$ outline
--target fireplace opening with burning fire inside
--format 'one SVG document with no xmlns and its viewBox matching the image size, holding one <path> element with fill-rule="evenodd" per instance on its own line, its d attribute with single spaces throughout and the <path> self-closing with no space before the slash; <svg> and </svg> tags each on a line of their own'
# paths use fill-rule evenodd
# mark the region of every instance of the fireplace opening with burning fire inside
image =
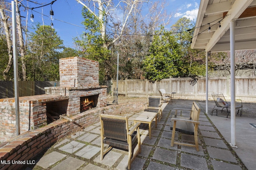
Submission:
<svg viewBox="0 0 256 170">
<path fill-rule="evenodd" d="M 80 113 L 97 106 L 99 95 L 80 97 Z"/>
</svg>

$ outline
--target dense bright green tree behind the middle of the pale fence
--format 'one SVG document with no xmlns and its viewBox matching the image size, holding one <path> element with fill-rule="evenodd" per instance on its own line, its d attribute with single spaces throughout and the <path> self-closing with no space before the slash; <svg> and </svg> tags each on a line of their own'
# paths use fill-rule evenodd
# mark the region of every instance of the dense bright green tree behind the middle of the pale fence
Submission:
<svg viewBox="0 0 256 170">
<path fill-rule="evenodd" d="M 155 82 L 178 75 L 181 47 L 177 38 L 164 30 L 164 27 L 156 31 L 149 53 L 144 60 L 145 78 Z"/>
</svg>

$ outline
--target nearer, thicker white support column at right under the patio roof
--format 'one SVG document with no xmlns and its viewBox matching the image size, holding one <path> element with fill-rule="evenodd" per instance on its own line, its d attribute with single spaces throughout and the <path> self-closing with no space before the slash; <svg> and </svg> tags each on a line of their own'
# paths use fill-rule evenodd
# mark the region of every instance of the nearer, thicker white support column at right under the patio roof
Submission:
<svg viewBox="0 0 256 170">
<path fill-rule="evenodd" d="M 230 21 L 231 147 L 236 147 L 235 21 Z M 237 147 L 236 147 L 237 148 Z"/>
</svg>

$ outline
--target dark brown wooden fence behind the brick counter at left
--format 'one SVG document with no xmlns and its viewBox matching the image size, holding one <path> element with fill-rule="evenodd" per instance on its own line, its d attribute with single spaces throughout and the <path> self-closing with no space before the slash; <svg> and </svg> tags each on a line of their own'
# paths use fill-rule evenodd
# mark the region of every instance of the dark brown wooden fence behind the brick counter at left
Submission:
<svg viewBox="0 0 256 170">
<path fill-rule="evenodd" d="M 19 96 L 45 94 L 45 87 L 60 86 L 60 82 L 19 81 Z M 0 81 L 0 98 L 14 97 L 14 82 Z"/>
</svg>

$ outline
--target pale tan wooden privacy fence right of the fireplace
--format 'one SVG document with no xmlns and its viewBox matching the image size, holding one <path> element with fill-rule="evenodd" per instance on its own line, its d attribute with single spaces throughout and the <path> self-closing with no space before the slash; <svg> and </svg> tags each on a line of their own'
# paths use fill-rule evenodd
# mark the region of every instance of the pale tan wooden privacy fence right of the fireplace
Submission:
<svg viewBox="0 0 256 170">
<path fill-rule="evenodd" d="M 146 97 L 147 95 L 160 95 L 158 90 L 163 88 L 166 92 L 176 92 L 174 98 L 206 99 L 206 78 L 200 78 L 192 86 L 191 78 L 169 78 L 159 82 L 148 80 L 118 80 L 118 94 L 128 97 Z M 116 80 L 112 80 L 112 92 L 116 89 Z M 256 76 L 236 77 L 236 99 L 256 102 Z M 211 94 L 222 92 L 230 100 L 230 77 L 208 78 L 208 97 Z"/>
</svg>

